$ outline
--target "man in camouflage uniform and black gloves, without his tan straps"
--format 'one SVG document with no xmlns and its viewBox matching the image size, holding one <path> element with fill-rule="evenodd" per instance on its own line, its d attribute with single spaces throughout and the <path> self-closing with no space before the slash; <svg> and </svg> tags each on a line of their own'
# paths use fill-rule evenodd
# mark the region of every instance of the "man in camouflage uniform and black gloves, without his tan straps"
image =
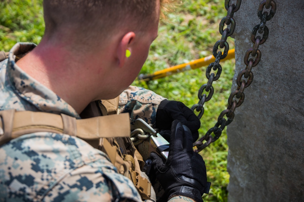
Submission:
<svg viewBox="0 0 304 202">
<path fill-rule="evenodd" d="M 154 181 L 159 181 L 165 193 L 157 201 L 202 201 L 206 167 L 192 150 L 198 118 L 180 102 L 130 86 L 157 37 L 165 3 L 44 0 L 46 28 L 40 44 L 17 43 L 0 63 L 0 110 L 46 112 L 71 120 L 128 113 L 131 128 L 142 118 L 170 141 L 167 160 L 150 156 L 151 182 L 156 186 Z M 118 96 L 117 106 L 105 107 Z M 4 133 L 7 118 L 1 117 Z M 109 141 L 116 144 L 116 137 Z M 0 146 L 0 200 L 149 200 L 100 146 L 100 141 L 95 147 L 68 132 L 39 131 L 12 138 Z M 130 161 L 138 164 L 132 142 L 129 147 L 127 153 L 122 146 L 117 153 L 128 157 L 133 151 Z"/>
</svg>

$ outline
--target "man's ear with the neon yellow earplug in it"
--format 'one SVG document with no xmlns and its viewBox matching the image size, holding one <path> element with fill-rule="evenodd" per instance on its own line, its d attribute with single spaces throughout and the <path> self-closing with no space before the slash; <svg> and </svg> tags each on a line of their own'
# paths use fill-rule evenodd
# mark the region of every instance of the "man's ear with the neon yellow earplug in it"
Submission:
<svg viewBox="0 0 304 202">
<path fill-rule="evenodd" d="M 126 51 L 129 50 L 131 52 L 132 57 L 132 43 L 135 38 L 134 32 L 126 33 L 121 39 L 118 47 L 117 47 L 117 57 L 119 61 L 119 67 L 123 67 L 128 58 L 126 57 Z"/>
</svg>

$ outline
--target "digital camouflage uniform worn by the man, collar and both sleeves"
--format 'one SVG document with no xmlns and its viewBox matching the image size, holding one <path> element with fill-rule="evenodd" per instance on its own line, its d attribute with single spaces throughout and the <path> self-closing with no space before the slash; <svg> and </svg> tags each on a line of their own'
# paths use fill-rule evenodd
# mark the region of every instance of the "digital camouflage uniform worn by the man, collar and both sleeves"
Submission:
<svg viewBox="0 0 304 202">
<path fill-rule="evenodd" d="M 15 56 L 35 47 L 19 43 L 0 63 L 0 110 L 79 114 L 58 95 L 15 64 Z M 163 97 L 144 88 L 122 93 L 119 107 L 131 122 L 155 125 Z M 0 201 L 141 201 L 131 180 L 117 173 L 109 158 L 85 141 L 66 134 L 26 134 L 0 147 Z"/>
</svg>

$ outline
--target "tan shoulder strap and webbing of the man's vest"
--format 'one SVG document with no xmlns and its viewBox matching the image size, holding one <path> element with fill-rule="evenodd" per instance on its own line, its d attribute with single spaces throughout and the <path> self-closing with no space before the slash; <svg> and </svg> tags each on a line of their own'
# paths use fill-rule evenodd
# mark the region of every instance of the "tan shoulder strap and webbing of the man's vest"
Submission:
<svg viewBox="0 0 304 202">
<path fill-rule="evenodd" d="M 34 132 L 63 133 L 79 137 L 85 141 L 99 140 L 97 142 L 102 145 L 101 150 L 108 154 L 113 164 L 117 166 L 119 160 L 121 160 L 119 165 L 126 166 L 126 169 L 123 170 L 126 176 L 133 181 L 141 197 L 150 199 L 153 191 L 151 191 L 148 178 L 140 175 L 139 162 L 142 161 L 143 163 L 140 154 L 136 150 L 134 157 L 123 155 L 124 158 L 121 158 L 119 157 L 118 147 L 106 139 L 114 141 L 117 137 L 130 137 L 130 117 L 128 113 L 76 120 L 76 118 L 65 114 L 15 110 L 0 111 L 0 146 L 16 137 Z M 130 166 L 124 163 L 129 161 Z M 119 170 L 121 166 L 117 167 Z"/>
</svg>

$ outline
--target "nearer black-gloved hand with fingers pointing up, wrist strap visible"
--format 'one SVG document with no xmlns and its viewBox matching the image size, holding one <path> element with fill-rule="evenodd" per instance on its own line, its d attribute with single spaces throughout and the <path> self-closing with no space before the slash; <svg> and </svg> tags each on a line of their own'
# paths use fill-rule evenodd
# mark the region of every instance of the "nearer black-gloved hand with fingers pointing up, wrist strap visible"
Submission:
<svg viewBox="0 0 304 202">
<path fill-rule="evenodd" d="M 167 199 L 179 195 L 202 201 L 207 185 L 206 166 L 202 156 L 193 151 L 192 142 L 189 128 L 175 120 L 167 161 L 163 162 L 156 153 L 150 154 L 152 168 Z"/>
</svg>

